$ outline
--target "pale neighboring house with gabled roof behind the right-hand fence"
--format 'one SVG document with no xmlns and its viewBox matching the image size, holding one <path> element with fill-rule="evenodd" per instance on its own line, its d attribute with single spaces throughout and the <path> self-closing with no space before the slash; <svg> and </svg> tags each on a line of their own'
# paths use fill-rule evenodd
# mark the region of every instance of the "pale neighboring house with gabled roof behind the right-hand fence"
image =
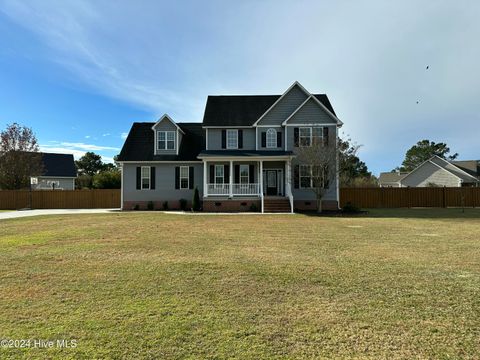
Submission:
<svg viewBox="0 0 480 360">
<path fill-rule="evenodd" d="M 382 173 L 379 183 L 382 187 L 480 186 L 480 162 L 433 156 L 408 174 Z"/>
</svg>

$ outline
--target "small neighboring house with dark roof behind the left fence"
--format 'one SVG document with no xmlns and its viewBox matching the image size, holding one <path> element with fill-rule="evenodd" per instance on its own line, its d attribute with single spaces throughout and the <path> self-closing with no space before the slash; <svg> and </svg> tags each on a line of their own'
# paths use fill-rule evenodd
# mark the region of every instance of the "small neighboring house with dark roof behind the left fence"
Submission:
<svg viewBox="0 0 480 360">
<path fill-rule="evenodd" d="M 75 190 L 77 169 L 71 154 L 40 153 L 43 174 L 37 176 L 33 190 Z"/>
</svg>

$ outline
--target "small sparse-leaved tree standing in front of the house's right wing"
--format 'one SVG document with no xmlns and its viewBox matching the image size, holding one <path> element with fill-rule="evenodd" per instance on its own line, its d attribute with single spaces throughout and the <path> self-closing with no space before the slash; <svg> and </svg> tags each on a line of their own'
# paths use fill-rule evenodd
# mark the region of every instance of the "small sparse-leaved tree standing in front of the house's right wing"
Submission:
<svg viewBox="0 0 480 360">
<path fill-rule="evenodd" d="M 300 188 L 310 189 L 315 194 L 317 212 L 322 212 L 322 200 L 330 185 L 337 180 L 337 149 L 337 142 L 329 141 L 328 135 L 323 137 L 322 134 L 300 137 L 298 147 L 295 148 L 298 162 L 295 181 L 298 181 Z"/>
</svg>

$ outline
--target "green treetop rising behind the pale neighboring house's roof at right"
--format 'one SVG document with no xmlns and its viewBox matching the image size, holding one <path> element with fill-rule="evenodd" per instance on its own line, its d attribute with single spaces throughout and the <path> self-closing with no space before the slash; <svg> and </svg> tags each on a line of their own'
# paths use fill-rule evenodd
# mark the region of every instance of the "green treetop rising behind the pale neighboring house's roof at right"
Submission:
<svg viewBox="0 0 480 360">
<path fill-rule="evenodd" d="M 445 160 L 455 160 L 458 154 L 448 155 L 450 148 L 445 143 L 435 143 L 430 140 L 421 140 L 408 149 L 402 166 L 397 170 L 410 172 L 420 164 L 436 155 Z"/>
</svg>

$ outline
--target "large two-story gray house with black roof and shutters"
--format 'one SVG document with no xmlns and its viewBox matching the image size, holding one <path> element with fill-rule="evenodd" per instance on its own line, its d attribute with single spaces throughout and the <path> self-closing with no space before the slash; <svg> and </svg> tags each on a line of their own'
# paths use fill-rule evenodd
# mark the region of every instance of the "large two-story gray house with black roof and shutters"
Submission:
<svg viewBox="0 0 480 360">
<path fill-rule="evenodd" d="M 122 208 L 190 206 L 198 187 L 206 211 L 315 209 L 295 149 L 315 136 L 336 146 L 341 125 L 327 96 L 298 82 L 283 95 L 209 96 L 202 123 L 134 123 L 118 157 Z M 338 209 L 338 179 L 322 205 Z"/>
</svg>

